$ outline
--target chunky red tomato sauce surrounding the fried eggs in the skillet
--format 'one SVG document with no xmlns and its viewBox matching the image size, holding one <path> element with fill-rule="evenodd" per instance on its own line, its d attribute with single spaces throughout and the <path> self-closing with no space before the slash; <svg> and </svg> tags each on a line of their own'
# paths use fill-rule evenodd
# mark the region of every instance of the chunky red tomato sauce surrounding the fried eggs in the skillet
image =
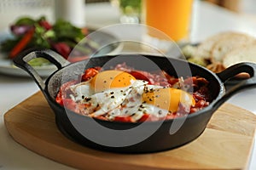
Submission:
<svg viewBox="0 0 256 170">
<path fill-rule="evenodd" d="M 150 85 L 161 86 L 165 88 L 186 88 L 190 94 L 192 94 L 193 98 L 195 99 L 195 105 L 189 108 L 183 107 L 182 104 L 179 105 L 178 111 L 173 112 L 172 114 L 167 114 L 164 117 L 166 119 L 174 119 L 179 116 L 184 116 L 185 114 L 192 114 L 196 111 L 200 111 L 204 107 L 207 107 L 211 102 L 210 93 L 208 89 L 209 82 L 204 77 L 173 77 L 168 75 L 166 71 L 158 71 L 158 72 L 148 72 L 148 71 L 139 71 L 135 70 L 125 63 L 115 65 L 113 70 L 117 71 L 125 71 L 135 77 L 137 80 L 144 80 L 147 81 Z M 67 107 L 67 109 L 74 111 L 79 114 L 79 105 L 73 99 L 70 98 L 70 94 L 72 91 L 70 87 L 79 83 L 79 82 L 86 82 L 90 80 L 92 77 L 95 77 L 102 71 L 102 67 L 94 67 L 89 68 L 84 71 L 84 73 L 80 76 L 79 80 L 73 80 L 70 82 L 66 82 L 62 84 L 58 94 L 55 96 L 55 101 L 62 106 Z M 84 105 L 83 105 L 84 106 Z M 83 107 L 82 106 L 82 107 Z M 98 119 L 108 120 L 106 116 L 96 116 Z M 148 113 L 145 113 L 137 122 L 145 122 L 145 121 L 159 121 L 163 118 L 158 118 Z M 130 116 L 116 116 L 114 117 L 113 121 L 117 122 L 134 122 Z"/>
</svg>

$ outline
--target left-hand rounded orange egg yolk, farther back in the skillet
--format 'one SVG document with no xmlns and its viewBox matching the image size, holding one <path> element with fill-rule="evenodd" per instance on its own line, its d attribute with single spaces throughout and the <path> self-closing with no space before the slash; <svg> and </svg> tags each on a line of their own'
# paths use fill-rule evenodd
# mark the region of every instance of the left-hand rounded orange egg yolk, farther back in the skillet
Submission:
<svg viewBox="0 0 256 170">
<path fill-rule="evenodd" d="M 90 86 L 95 92 L 102 92 L 110 88 L 125 88 L 136 80 L 131 74 L 124 71 L 102 71 L 92 78 Z"/>
</svg>

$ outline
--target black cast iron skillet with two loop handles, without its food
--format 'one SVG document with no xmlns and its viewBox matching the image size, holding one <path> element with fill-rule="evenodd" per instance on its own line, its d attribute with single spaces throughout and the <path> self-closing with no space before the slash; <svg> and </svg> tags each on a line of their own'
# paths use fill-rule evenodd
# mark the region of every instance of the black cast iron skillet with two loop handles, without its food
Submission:
<svg viewBox="0 0 256 170">
<path fill-rule="evenodd" d="M 154 61 L 154 63 L 159 65 L 162 70 L 165 70 L 171 75 L 176 73 L 173 69 L 173 65 L 175 65 L 176 69 L 179 68 L 180 72 L 183 71 L 183 67 L 188 65 L 186 61 L 179 59 L 167 59 L 152 55 L 143 56 Z M 38 76 L 37 72 L 27 64 L 29 60 L 38 57 L 49 59 L 49 61 L 58 68 L 58 70 L 50 75 L 45 82 Z M 230 97 L 233 94 L 236 94 L 236 92 L 239 92 L 242 89 L 254 88 L 256 85 L 256 65 L 253 63 L 233 65 L 218 74 L 214 74 L 212 71 L 208 71 L 199 65 L 189 63 L 193 76 L 205 77 L 210 82 L 209 88 L 211 89 L 212 94 L 211 104 L 205 109 L 197 111 L 186 117 L 167 120 L 165 122 L 144 122 L 143 127 L 140 127 L 142 125 L 141 123 L 108 122 L 96 120 L 87 116 L 80 116 L 72 111 L 65 110 L 64 107 L 61 107 L 61 105 L 58 105 L 55 102 L 55 94 L 58 92 L 61 82 L 67 82 L 72 80 L 74 77 L 79 77 L 79 74 L 81 74 L 84 69 L 91 66 L 104 65 L 109 60 L 117 57 L 118 56 L 102 56 L 70 64 L 66 59 L 63 59 L 59 54 L 56 54 L 53 51 L 38 50 L 19 56 L 15 58 L 14 62 L 15 65 L 27 71 L 38 84 L 38 87 L 43 92 L 45 99 L 47 99 L 50 107 L 55 112 L 55 122 L 61 133 L 79 144 L 84 144 L 98 150 L 122 153 L 145 153 L 169 150 L 189 143 L 203 133 L 212 114 L 220 105 L 222 105 L 227 99 L 230 99 Z M 122 55 L 119 59 L 128 59 L 126 60 L 128 65 L 132 65 L 135 68 L 137 67 L 136 54 L 130 54 L 128 56 Z M 251 78 L 243 80 L 228 92 L 225 92 L 224 82 L 241 72 L 247 72 Z M 182 123 L 182 126 L 178 127 L 180 123 Z M 97 129 L 96 124 L 108 127 L 108 129 L 112 129 L 114 132 L 118 131 L 118 135 L 116 135 L 116 133 L 102 132 Z M 173 129 L 175 126 L 178 128 L 176 131 L 172 132 L 170 129 Z M 136 131 L 132 131 L 132 129 L 136 129 Z M 147 134 L 147 132 L 152 129 L 155 129 L 155 132 L 148 134 L 146 139 L 142 139 L 137 143 L 129 143 L 129 139 L 140 139 L 142 135 Z M 122 131 L 120 135 L 119 131 Z M 96 140 L 91 139 L 90 134 L 94 134 Z"/>
</svg>

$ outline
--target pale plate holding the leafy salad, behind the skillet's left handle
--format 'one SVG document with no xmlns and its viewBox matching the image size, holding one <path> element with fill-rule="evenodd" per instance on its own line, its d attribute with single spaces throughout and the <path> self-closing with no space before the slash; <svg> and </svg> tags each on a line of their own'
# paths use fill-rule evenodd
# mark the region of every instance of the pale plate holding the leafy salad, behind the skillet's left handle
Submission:
<svg viewBox="0 0 256 170">
<path fill-rule="evenodd" d="M 108 34 L 106 32 L 97 32 L 97 34 L 93 34 L 93 40 L 97 42 L 100 46 L 104 46 L 108 42 L 118 42 L 116 37 L 113 35 Z M 0 43 L 3 42 L 6 38 L 11 37 L 9 31 L 1 31 L 0 32 Z M 101 44 L 102 43 L 102 44 Z M 123 44 L 110 44 L 106 47 L 100 49 L 100 51 L 96 55 L 103 55 L 103 54 L 113 54 L 118 53 L 123 48 Z M 35 66 L 33 67 L 37 72 L 38 75 L 41 77 L 49 77 L 51 73 L 57 70 L 55 65 L 43 65 L 43 66 Z M 13 64 L 11 59 L 8 59 L 7 54 L 3 54 L 0 52 L 0 73 L 9 76 L 16 76 L 16 77 L 30 77 L 26 71 L 21 70 L 20 68 L 16 67 Z"/>
</svg>

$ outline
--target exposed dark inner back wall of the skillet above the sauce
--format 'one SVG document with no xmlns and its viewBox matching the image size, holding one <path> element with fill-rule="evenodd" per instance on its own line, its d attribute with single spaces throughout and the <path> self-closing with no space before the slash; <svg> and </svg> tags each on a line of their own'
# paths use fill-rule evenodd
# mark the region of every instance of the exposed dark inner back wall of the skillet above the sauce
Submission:
<svg viewBox="0 0 256 170">
<path fill-rule="evenodd" d="M 84 60 L 78 63 L 67 65 L 65 68 L 56 71 L 51 77 L 49 77 L 46 82 L 47 93 L 49 93 L 50 99 L 52 101 L 55 101 L 55 95 L 58 93 L 59 88 L 61 87 L 61 83 L 79 78 L 79 76 L 87 68 L 106 65 L 106 63 L 108 63 L 107 67 L 109 67 L 123 63 L 124 61 L 127 65 L 131 65 L 131 67 L 142 71 L 154 71 L 155 68 L 147 66 L 151 65 L 151 62 L 153 61 L 156 65 L 160 67 L 161 70 L 164 70 L 169 73 L 169 75 L 175 77 L 188 77 L 191 75 L 205 77 L 207 81 L 210 82 L 209 89 L 211 89 L 212 100 L 217 99 L 218 95 L 221 92 L 222 82 L 220 82 L 220 80 L 214 73 L 208 71 L 204 67 L 191 63 L 189 63 L 188 66 L 188 62 L 183 61 L 182 59 L 167 59 L 165 57 L 151 55 L 143 55 L 143 57 L 147 58 L 146 60 L 143 60 L 143 63 L 141 60 L 141 55 L 124 54 L 118 56 L 95 57 L 89 60 Z"/>
</svg>

